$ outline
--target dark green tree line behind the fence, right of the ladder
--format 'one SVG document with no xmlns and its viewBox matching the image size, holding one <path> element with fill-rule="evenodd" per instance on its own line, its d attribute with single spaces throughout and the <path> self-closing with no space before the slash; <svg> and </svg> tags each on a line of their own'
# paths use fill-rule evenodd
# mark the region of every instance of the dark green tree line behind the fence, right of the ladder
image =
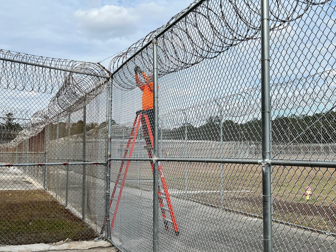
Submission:
<svg viewBox="0 0 336 252">
<path fill-rule="evenodd" d="M 335 143 L 336 112 L 314 115 L 282 116 L 271 120 L 273 143 Z M 163 139 L 220 141 L 220 118 L 209 117 L 206 123 L 196 127 L 191 123 L 173 129 L 163 129 Z M 245 123 L 223 120 L 222 141 L 261 141 L 261 120 Z"/>
</svg>

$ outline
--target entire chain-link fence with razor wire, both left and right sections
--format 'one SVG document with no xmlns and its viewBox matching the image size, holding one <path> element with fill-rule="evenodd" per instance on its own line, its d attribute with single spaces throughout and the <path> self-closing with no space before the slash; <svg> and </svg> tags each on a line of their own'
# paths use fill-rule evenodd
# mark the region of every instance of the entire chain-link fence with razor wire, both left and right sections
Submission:
<svg viewBox="0 0 336 252">
<path fill-rule="evenodd" d="M 48 202 L 62 237 L 23 243 L 336 251 L 335 4 L 195 1 L 114 56 L 110 77 L 1 50 L 0 201 L 14 209 L 0 244 Z"/>
</svg>

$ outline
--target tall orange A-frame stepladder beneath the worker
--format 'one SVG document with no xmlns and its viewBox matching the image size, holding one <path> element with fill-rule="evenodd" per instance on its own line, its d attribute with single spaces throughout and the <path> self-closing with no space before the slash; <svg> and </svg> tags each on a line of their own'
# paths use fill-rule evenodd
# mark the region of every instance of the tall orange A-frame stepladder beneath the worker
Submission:
<svg viewBox="0 0 336 252">
<path fill-rule="evenodd" d="M 146 114 L 146 112 L 147 111 L 145 111 L 145 110 L 140 110 L 140 111 L 136 112 L 135 120 L 134 120 L 134 123 L 133 123 L 133 126 L 132 126 L 130 136 L 128 138 L 128 142 L 127 142 L 127 145 L 126 145 L 126 149 L 125 149 L 125 153 L 124 153 L 123 158 L 126 158 L 127 154 L 128 154 L 128 158 L 132 157 L 134 144 L 135 144 L 136 136 L 137 136 L 137 133 L 138 133 L 138 130 L 139 130 L 140 122 L 141 122 L 141 125 L 142 125 L 142 131 L 143 131 L 143 136 L 144 136 L 144 139 L 145 139 L 145 142 L 146 142 L 146 146 L 152 146 L 152 147 L 154 146 L 154 144 L 153 144 L 154 138 L 153 138 L 153 134 L 152 134 L 152 130 L 151 130 L 151 125 L 150 125 L 150 122 L 149 122 L 148 114 Z M 144 121 L 145 121 L 145 124 L 146 124 L 145 127 L 147 128 L 147 130 L 144 128 L 143 121 L 141 120 L 142 116 L 144 118 Z M 151 143 L 149 143 L 149 139 L 150 139 Z M 149 145 L 149 144 L 151 144 L 151 145 Z M 130 151 L 128 153 L 129 149 L 130 149 Z M 148 152 L 148 157 L 153 158 L 152 152 L 149 148 L 147 148 L 147 152 Z M 125 185 L 125 180 L 126 180 L 126 176 L 127 176 L 127 172 L 128 172 L 128 168 L 129 168 L 129 164 L 130 164 L 130 161 L 126 161 L 126 162 L 127 163 L 126 163 L 126 168 L 125 168 L 125 171 L 124 171 L 124 176 L 123 176 L 122 181 L 121 181 L 120 191 L 119 191 L 116 207 L 114 209 L 112 221 L 111 221 L 111 226 L 110 226 L 111 233 L 112 233 L 113 226 L 114 226 L 114 223 L 115 223 L 115 220 L 116 220 L 118 207 L 119 207 L 119 203 L 120 203 L 120 199 L 121 199 L 121 194 L 122 194 L 122 191 L 123 191 L 123 188 L 124 188 L 124 185 Z M 152 171 L 154 172 L 153 161 L 150 161 L 150 162 L 151 162 Z M 125 161 L 122 161 L 121 165 L 120 165 L 119 172 L 118 172 L 118 176 L 117 176 L 117 179 L 116 179 L 116 183 L 113 187 L 113 191 L 112 191 L 112 194 L 111 194 L 109 208 L 111 208 L 112 202 L 114 200 L 114 196 L 115 196 L 115 193 L 116 193 L 116 190 L 117 190 L 117 185 L 119 184 L 124 164 L 125 164 Z M 170 220 L 166 216 L 166 211 L 165 211 L 164 204 L 163 204 L 163 194 L 161 193 L 160 186 L 159 186 L 159 205 L 160 205 L 160 208 L 161 208 L 161 214 L 162 214 L 162 218 L 164 220 L 164 225 L 165 225 L 165 228 L 168 229 L 168 222 L 171 222 L 173 224 L 175 234 L 179 235 L 178 227 L 177 227 L 175 216 L 174 216 L 173 206 L 171 204 L 170 195 L 169 195 L 169 192 L 168 192 L 166 179 L 163 175 L 163 170 L 162 170 L 162 167 L 161 167 L 160 164 L 159 164 L 159 175 L 160 175 L 160 178 L 161 178 L 161 183 L 162 183 L 162 187 L 163 187 L 163 191 L 164 191 L 164 196 L 166 197 L 166 202 L 167 202 L 167 206 L 168 206 L 168 210 L 169 210 L 170 218 L 171 218 L 171 220 Z M 101 234 L 104 231 L 105 223 L 106 223 L 106 218 L 104 219 L 104 223 L 103 223 L 103 226 L 101 228 L 101 232 L 100 232 Z"/>
</svg>

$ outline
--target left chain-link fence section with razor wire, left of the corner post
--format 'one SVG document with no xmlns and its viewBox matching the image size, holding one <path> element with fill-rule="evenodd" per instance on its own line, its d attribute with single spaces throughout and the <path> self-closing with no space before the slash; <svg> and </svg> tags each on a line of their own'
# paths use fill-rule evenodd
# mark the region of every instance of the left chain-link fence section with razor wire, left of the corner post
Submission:
<svg viewBox="0 0 336 252">
<path fill-rule="evenodd" d="M 87 62 L 0 54 L 0 245 L 98 237 L 107 77 Z"/>
</svg>

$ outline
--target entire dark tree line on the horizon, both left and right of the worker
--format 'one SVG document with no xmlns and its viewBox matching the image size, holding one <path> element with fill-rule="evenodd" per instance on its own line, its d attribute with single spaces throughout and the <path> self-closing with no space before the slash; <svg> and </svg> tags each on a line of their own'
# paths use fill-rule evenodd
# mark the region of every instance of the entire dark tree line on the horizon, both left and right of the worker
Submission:
<svg viewBox="0 0 336 252">
<path fill-rule="evenodd" d="M 23 125 L 15 122 L 14 114 L 7 113 L 2 117 L 0 123 L 0 142 L 8 142 L 14 139 Z M 112 120 L 115 125 L 116 121 Z M 49 125 L 50 139 L 68 135 L 67 123 L 51 123 Z M 261 120 L 252 119 L 245 123 L 232 120 L 222 121 L 222 134 L 220 134 L 220 118 L 210 116 L 206 123 L 201 126 L 194 126 L 185 123 L 172 129 L 161 129 L 159 134 L 162 139 L 174 140 L 210 140 L 220 141 L 261 141 Z M 83 120 L 74 122 L 70 126 L 70 135 L 83 134 Z M 107 127 L 107 122 L 90 122 L 86 124 L 86 131 L 102 129 Z M 336 112 L 316 113 L 313 115 L 291 115 L 282 116 L 271 120 L 272 142 L 273 143 L 335 143 L 336 140 Z"/>
</svg>

